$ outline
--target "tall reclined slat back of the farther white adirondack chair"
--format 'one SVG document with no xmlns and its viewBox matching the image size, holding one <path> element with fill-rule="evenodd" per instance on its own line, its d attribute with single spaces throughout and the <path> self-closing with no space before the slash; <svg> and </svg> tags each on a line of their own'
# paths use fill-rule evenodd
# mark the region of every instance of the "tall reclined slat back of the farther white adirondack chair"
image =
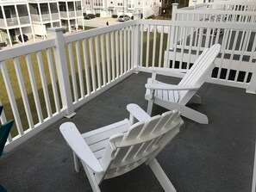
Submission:
<svg viewBox="0 0 256 192">
<path fill-rule="evenodd" d="M 202 86 L 206 79 L 210 76 L 215 67 L 214 60 L 221 51 L 221 45 L 216 44 L 208 49 L 203 50 L 203 53 L 198 57 L 194 65 L 190 68 L 179 85 L 197 85 Z M 180 90 L 179 102 L 187 103 L 196 90 Z"/>
</svg>

